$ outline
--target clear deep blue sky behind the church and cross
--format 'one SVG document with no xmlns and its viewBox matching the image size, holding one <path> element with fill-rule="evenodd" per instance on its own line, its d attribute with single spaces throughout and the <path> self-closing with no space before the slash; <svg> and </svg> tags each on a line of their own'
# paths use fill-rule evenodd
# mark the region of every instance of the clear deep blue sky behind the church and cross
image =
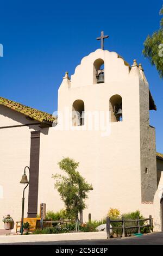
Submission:
<svg viewBox="0 0 163 256">
<path fill-rule="evenodd" d="M 57 110 L 65 71 L 100 47 L 96 37 L 109 35 L 105 49 L 127 62 L 143 64 L 158 111 L 151 111 L 156 149 L 163 153 L 163 84 L 142 56 L 143 41 L 159 28 L 163 1 L 8 1 L 1 0 L 0 95 L 42 111 Z"/>
</svg>

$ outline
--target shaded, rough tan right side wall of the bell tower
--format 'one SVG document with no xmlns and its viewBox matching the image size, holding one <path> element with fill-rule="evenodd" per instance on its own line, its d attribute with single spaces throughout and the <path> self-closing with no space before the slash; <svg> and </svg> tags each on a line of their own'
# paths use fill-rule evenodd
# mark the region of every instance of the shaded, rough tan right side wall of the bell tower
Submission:
<svg viewBox="0 0 163 256">
<path fill-rule="evenodd" d="M 141 200 L 153 202 L 157 190 L 155 128 L 149 125 L 149 87 L 141 80 L 140 94 L 140 156 Z"/>
</svg>

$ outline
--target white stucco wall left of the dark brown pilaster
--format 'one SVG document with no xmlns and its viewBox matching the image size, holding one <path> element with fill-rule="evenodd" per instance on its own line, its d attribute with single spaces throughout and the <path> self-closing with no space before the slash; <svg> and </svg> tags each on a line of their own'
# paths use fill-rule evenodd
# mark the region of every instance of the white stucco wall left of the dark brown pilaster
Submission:
<svg viewBox="0 0 163 256">
<path fill-rule="evenodd" d="M 0 127 L 36 123 L 24 115 L 0 106 Z M 0 129 L 0 229 L 3 216 L 10 214 L 14 221 L 21 220 L 22 193 L 20 184 L 25 166 L 29 166 L 30 131 L 37 126 Z M 27 176 L 29 174 L 27 173 Z M 1 193 L 2 191 L 2 193 Z M 28 188 L 25 192 L 24 217 L 27 217 Z"/>
</svg>

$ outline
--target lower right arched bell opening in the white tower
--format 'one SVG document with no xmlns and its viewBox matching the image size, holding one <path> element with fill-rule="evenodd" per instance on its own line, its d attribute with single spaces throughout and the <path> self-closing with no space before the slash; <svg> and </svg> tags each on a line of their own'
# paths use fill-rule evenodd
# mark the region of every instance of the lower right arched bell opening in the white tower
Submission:
<svg viewBox="0 0 163 256">
<path fill-rule="evenodd" d="M 122 97 L 118 94 L 111 96 L 109 101 L 110 121 L 122 121 Z"/>
</svg>

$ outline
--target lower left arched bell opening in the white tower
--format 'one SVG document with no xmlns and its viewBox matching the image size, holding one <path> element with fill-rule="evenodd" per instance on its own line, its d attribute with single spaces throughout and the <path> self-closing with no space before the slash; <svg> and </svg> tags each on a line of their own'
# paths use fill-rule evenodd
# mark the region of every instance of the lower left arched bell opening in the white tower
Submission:
<svg viewBox="0 0 163 256">
<path fill-rule="evenodd" d="M 72 126 L 84 125 L 84 101 L 76 100 L 72 105 Z"/>
</svg>

